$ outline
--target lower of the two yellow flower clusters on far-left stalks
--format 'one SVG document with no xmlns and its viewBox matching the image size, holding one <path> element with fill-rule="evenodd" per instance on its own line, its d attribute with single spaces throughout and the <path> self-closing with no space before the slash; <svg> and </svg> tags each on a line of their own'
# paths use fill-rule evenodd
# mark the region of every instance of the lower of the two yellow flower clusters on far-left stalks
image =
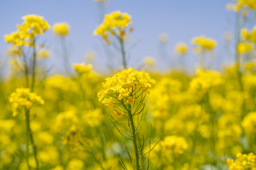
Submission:
<svg viewBox="0 0 256 170">
<path fill-rule="evenodd" d="M 44 100 L 36 93 L 31 93 L 28 88 L 17 88 L 15 92 L 10 94 L 9 102 L 12 106 L 13 116 L 17 115 L 17 109 L 19 106 L 25 106 L 30 109 L 33 104 L 44 104 Z"/>
</svg>

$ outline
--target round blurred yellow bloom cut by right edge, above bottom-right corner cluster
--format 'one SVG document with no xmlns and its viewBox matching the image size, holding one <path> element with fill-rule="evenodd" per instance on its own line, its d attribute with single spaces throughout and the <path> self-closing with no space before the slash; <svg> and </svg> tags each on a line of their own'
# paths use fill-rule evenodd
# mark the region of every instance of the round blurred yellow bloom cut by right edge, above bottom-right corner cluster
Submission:
<svg viewBox="0 0 256 170">
<path fill-rule="evenodd" d="M 242 127 L 249 133 L 256 133 L 256 112 L 250 112 L 242 121 Z"/>
</svg>

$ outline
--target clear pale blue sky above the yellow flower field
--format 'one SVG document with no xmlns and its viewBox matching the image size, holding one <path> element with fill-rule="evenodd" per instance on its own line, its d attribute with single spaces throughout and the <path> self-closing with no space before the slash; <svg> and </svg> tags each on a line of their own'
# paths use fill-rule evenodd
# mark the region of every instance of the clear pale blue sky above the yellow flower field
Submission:
<svg viewBox="0 0 256 170">
<path fill-rule="evenodd" d="M 168 65 L 159 57 L 158 36 L 165 32 L 169 34 L 166 50 L 169 53 L 171 65 L 176 64 L 173 54 L 177 42 L 186 42 L 190 45 L 190 54 L 187 65 L 195 66 L 197 56 L 192 54 L 191 39 L 198 35 L 214 38 L 218 42 L 215 49 L 215 58 L 212 60 L 225 61 L 223 54 L 223 34 L 233 30 L 230 17 L 233 12 L 227 11 L 225 6 L 229 0 L 109 0 L 104 8 L 106 13 L 114 10 L 127 12 L 132 16 L 132 26 L 135 31 L 130 42 L 139 41 L 132 50 L 129 66 L 136 67 L 145 56 L 152 56 L 158 63 L 158 68 Z M 16 24 L 21 24 L 21 17 L 27 14 L 44 16 L 52 26 L 56 22 L 67 22 L 71 26 L 68 36 L 70 60 L 83 62 L 88 51 L 96 51 L 94 68 L 103 71 L 106 69 L 106 55 L 102 50 L 100 37 L 94 36 L 93 30 L 101 22 L 101 8 L 93 0 L 0 0 L 0 54 L 6 60 L 4 51 L 9 44 L 4 42 L 4 34 L 16 30 Z M 51 30 L 40 37 L 52 51 L 47 65 L 54 65 L 55 70 L 61 69 L 61 58 L 56 52 L 59 47 L 58 39 Z M 118 55 L 118 54 L 117 54 Z M 209 61 L 210 62 L 210 61 Z M 219 62 L 214 62 L 219 65 Z M 213 64 L 214 65 L 214 64 Z"/>
</svg>

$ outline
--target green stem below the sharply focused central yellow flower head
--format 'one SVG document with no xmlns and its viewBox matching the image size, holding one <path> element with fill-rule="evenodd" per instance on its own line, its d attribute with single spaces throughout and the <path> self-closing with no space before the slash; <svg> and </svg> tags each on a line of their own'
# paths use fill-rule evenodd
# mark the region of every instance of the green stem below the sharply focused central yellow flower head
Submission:
<svg viewBox="0 0 256 170">
<path fill-rule="evenodd" d="M 129 117 L 130 117 L 130 123 L 131 123 L 131 128 L 132 128 L 133 146 L 134 146 L 135 158 L 136 158 L 136 170 L 139 170 L 140 166 L 139 166 L 139 154 L 138 154 L 136 130 L 135 130 L 135 127 L 134 127 L 133 115 L 131 113 L 130 108 L 128 110 L 129 110 L 128 114 L 129 114 Z"/>
</svg>

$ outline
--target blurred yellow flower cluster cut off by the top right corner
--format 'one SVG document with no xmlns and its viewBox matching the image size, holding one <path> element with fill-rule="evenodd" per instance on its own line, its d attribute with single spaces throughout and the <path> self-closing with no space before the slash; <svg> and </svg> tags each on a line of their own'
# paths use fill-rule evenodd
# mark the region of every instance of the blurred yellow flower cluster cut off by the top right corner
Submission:
<svg viewBox="0 0 256 170">
<path fill-rule="evenodd" d="M 234 10 L 235 12 L 239 11 L 243 7 L 251 8 L 252 10 L 256 10 L 256 1 L 255 0 L 236 0 L 236 4 L 229 3 L 227 8 L 230 10 Z"/>
</svg>

